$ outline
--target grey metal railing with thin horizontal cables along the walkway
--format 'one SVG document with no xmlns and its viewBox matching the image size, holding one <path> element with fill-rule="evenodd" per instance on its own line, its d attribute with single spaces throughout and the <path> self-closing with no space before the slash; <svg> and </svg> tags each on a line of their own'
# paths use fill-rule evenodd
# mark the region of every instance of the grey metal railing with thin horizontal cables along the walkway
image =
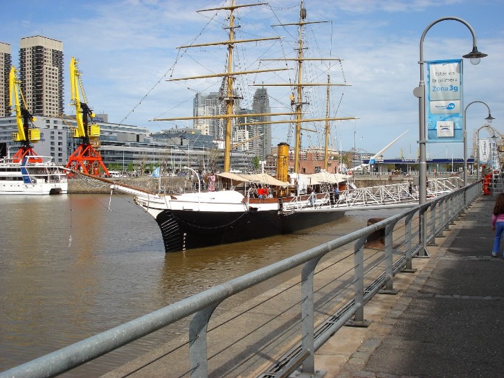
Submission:
<svg viewBox="0 0 504 378">
<path fill-rule="evenodd" d="M 366 228 L 0 372 L 0 377 L 54 377 L 184 319 L 189 322 L 186 336 L 167 341 L 122 375 L 150 375 L 149 369 L 159 366 L 170 377 L 272 378 L 287 377 L 296 369 L 314 374 L 315 351 L 344 325 L 366 326 L 366 303 L 379 292 L 393 294 L 395 275 L 414 272 L 413 258 L 427 257 L 429 244 L 481 190 L 478 181 L 377 219 Z M 290 274 L 288 279 L 280 280 L 285 274 Z M 257 289 L 267 282 L 273 283 Z M 253 299 L 233 311 L 215 311 L 224 300 L 253 288 Z"/>
</svg>

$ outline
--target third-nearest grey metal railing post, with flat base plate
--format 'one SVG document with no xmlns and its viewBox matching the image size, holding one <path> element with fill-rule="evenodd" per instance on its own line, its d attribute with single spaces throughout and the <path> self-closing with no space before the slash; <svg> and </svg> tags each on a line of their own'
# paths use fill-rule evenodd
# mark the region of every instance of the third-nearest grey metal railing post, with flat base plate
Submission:
<svg viewBox="0 0 504 378">
<path fill-rule="evenodd" d="M 368 327 L 370 321 L 364 319 L 364 244 L 369 235 L 361 237 L 354 245 L 354 302 L 359 307 L 354 318 L 347 322 L 352 327 Z"/>
</svg>

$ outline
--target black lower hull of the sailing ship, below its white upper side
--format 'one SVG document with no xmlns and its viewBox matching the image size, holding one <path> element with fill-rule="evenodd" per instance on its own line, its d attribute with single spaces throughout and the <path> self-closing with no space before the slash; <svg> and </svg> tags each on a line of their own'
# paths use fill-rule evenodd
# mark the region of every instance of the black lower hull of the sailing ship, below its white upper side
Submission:
<svg viewBox="0 0 504 378">
<path fill-rule="evenodd" d="M 344 210 L 204 212 L 163 210 L 156 217 L 165 252 L 293 233 L 343 217 Z"/>
</svg>

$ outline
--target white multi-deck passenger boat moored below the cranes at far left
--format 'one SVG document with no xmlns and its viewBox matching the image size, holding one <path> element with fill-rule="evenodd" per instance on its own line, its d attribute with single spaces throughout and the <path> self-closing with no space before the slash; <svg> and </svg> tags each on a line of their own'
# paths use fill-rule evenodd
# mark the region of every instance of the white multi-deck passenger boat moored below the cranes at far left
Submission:
<svg viewBox="0 0 504 378">
<path fill-rule="evenodd" d="M 0 159 L 0 195 L 53 195 L 67 190 L 66 171 L 51 156 Z"/>
</svg>

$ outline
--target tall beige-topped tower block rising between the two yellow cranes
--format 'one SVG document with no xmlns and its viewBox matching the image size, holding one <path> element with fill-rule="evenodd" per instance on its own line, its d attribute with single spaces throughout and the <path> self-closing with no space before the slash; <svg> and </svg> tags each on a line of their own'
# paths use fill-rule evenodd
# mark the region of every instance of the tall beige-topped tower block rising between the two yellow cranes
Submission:
<svg viewBox="0 0 504 378">
<path fill-rule="evenodd" d="M 21 38 L 19 76 L 31 114 L 63 114 L 63 42 L 40 35 Z"/>
</svg>

